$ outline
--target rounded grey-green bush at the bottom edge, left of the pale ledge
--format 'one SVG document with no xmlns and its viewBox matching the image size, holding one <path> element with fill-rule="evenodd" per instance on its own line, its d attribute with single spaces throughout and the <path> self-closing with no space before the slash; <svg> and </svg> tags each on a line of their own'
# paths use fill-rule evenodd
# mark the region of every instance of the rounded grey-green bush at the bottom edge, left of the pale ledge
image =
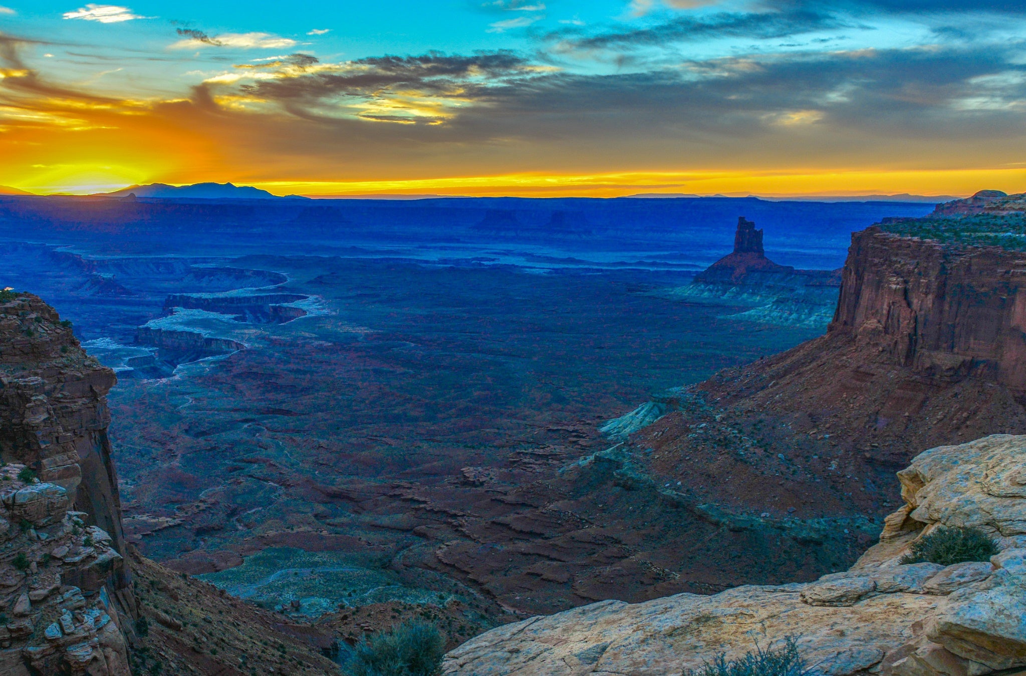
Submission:
<svg viewBox="0 0 1026 676">
<path fill-rule="evenodd" d="M 445 654 L 434 625 L 411 621 L 363 638 L 345 666 L 348 676 L 433 676 Z"/>
</svg>

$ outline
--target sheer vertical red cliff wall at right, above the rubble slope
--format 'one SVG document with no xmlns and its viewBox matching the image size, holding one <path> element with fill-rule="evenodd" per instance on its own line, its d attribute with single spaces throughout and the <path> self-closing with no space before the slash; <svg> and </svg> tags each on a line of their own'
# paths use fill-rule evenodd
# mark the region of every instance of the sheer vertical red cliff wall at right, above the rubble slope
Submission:
<svg viewBox="0 0 1026 676">
<path fill-rule="evenodd" d="M 856 233 L 830 330 L 931 382 L 1026 391 L 1026 256 Z"/>
</svg>

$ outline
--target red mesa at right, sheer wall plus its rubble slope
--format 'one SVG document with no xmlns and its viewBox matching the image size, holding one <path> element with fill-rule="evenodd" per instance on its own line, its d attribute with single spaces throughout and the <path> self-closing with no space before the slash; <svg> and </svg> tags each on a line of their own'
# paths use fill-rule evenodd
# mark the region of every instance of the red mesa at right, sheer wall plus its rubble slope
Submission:
<svg viewBox="0 0 1026 676">
<path fill-rule="evenodd" d="M 706 413 L 635 437 L 654 473 L 732 510 L 882 515 L 916 453 L 1026 432 L 1026 255 L 856 233 L 826 335 L 692 392 Z"/>
</svg>

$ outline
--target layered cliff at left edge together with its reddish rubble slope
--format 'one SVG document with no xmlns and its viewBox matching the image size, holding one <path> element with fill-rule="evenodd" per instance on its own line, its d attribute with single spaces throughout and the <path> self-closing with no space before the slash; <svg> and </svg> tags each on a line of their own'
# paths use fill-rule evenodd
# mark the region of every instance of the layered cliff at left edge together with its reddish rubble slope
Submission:
<svg viewBox="0 0 1026 676">
<path fill-rule="evenodd" d="M 114 373 L 30 293 L 0 293 L 0 674 L 337 673 L 329 631 L 141 557 L 122 534 Z"/>
</svg>

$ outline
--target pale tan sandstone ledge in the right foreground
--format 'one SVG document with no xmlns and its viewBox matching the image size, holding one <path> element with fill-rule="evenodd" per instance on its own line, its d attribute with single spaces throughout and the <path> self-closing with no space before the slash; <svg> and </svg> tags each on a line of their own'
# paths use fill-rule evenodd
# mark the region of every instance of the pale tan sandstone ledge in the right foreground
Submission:
<svg viewBox="0 0 1026 676">
<path fill-rule="evenodd" d="M 1026 436 L 928 450 L 900 473 L 905 505 L 850 570 L 646 603 L 602 601 L 482 634 L 447 676 L 679 674 L 788 637 L 814 673 L 983 676 L 1026 667 Z M 938 526 L 975 526 L 989 562 L 902 564 Z"/>
</svg>

